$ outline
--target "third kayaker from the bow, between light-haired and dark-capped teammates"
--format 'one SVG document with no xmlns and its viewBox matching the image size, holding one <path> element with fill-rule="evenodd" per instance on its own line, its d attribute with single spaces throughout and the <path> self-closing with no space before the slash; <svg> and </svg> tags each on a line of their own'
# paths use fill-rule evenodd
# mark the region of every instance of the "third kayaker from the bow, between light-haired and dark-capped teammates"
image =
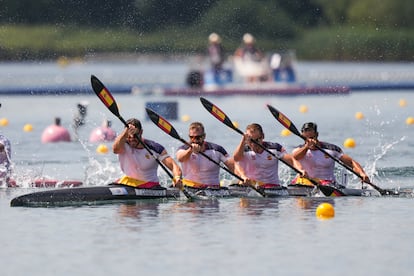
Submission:
<svg viewBox="0 0 414 276">
<path fill-rule="evenodd" d="M 298 169 L 302 175 L 306 175 L 300 163 L 288 154 L 282 145 L 264 141 L 264 138 L 262 126 L 252 123 L 246 127 L 246 132 L 234 151 L 235 170 L 244 179 L 245 184 L 264 189 L 280 187 L 278 158 Z M 263 147 L 274 153 L 277 158 Z"/>
</svg>

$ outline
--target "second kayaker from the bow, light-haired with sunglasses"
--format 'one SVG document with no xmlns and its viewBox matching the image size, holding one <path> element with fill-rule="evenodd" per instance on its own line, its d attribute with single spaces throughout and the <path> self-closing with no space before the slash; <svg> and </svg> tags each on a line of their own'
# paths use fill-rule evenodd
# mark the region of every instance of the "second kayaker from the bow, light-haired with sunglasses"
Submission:
<svg viewBox="0 0 414 276">
<path fill-rule="evenodd" d="M 220 167 L 199 154 L 203 152 L 217 163 L 223 163 L 234 171 L 233 158 L 220 145 L 205 140 L 206 133 L 200 122 L 193 122 L 188 131 L 189 144 L 178 148 L 177 160 L 183 169 L 183 185 L 193 188 L 220 188 Z"/>
</svg>

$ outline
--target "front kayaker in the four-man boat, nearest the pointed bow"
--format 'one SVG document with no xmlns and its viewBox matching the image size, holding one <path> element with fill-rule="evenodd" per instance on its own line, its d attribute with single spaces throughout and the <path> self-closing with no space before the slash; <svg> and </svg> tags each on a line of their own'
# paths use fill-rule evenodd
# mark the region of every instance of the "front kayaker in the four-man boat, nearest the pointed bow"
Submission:
<svg viewBox="0 0 414 276">
<path fill-rule="evenodd" d="M 118 155 L 122 172 L 125 174 L 117 183 L 137 188 L 159 188 L 157 158 L 174 175 L 173 186 L 181 186 L 181 168 L 161 144 L 144 139 L 142 124 L 138 119 L 126 121 L 125 128 L 116 138 L 112 150 Z M 145 146 L 142 143 L 145 143 Z M 151 150 L 153 156 L 148 152 Z"/>
</svg>

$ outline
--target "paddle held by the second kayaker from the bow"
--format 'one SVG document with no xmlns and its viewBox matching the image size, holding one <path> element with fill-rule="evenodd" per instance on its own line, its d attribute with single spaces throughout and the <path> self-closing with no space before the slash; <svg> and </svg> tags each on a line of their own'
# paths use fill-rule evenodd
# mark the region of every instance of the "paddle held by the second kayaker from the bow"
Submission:
<svg viewBox="0 0 414 276">
<path fill-rule="evenodd" d="M 186 140 L 184 140 L 183 138 L 181 138 L 180 135 L 178 134 L 178 132 L 175 130 L 175 128 L 164 117 L 162 117 L 161 115 L 157 114 L 155 111 L 151 110 L 148 107 L 146 108 L 146 110 L 147 110 L 148 116 L 150 117 L 151 121 L 155 125 L 157 125 L 160 129 L 162 129 L 165 133 L 167 133 L 171 137 L 173 137 L 173 138 L 181 141 L 185 145 L 191 147 L 191 144 L 189 142 L 187 142 Z M 231 174 L 234 177 L 236 177 L 237 179 L 239 179 L 240 181 L 244 181 L 243 178 L 241 178 L 240 176 L 238 176 L 234 172 L 230 171 L 227 167 L 221 165 L 220 163 L 218 163 L 216 160 L 212 159 L 210 156 L 208 156 L 204 152 L 200 151 L 199 153 L 202 156 L 204 156 L 205 158 L 207 158 L 209 161 L 213 162 L 214 164 L 216 164 L 217 166 L 219 166 L 223 170 L 227 171 L 229 174 Z M 261 196 L 265 196 L 265 194 L 263 192 L 259 191 L 258 189 L 256 189 L 256 187 L 254 187 L 254 186 L 251 186 L 251 187 L 256 192 L 258 192 Z"/>
</svg>

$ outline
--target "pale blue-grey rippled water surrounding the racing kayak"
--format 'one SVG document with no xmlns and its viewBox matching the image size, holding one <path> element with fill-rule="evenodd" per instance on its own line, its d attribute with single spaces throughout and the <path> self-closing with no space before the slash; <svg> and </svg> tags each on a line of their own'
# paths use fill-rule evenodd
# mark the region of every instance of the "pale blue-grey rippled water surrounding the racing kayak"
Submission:
<svg viewBox="0 0 414 276">
<path fill-rule="evenodd" d="M 33 77 L 30 66 L 15 66 L 18 70 L 10 69 L 9 76 L 25 75 L 27 83 L 40 85 L 37 80 L 55 79 L 55 65 L 35 66 L 35 72 L 44 70 L 43 78 L 41 73 Z M 181 63 L 176 70 L 174 64 L 168 64 L 165 71 L 159 64 L 154 65 L 156 68 L 148 65 L 149 68 L 138 66 L 138 69 L 131 64 L 74 66 L 78 68 L 70 69 L 73 70 L 70 75 L 82 85 L 89 84 L 90 74 L 96 74 L 106 83 L 106 75 L 99 70 L 111 72 L 110 83 L 119 81 L 117 73 L 122 75 L 121 79 L 132 79 L 148 72 L 157 72 L 159 76 L 170 72 L 168 78 L 179 82 L 186 68 Z M 347 71 L 350 66 L 346 65 Z M 360 70 L 358 64 L 353 66 L 354 72 Z M 304 64 L 299 71 L 309 67 L 324 75 L 336 74 L 341 68 L 335 64 Z M 0 71 L 6 71 L 5 68 L 7 64 L 1 65 Z M 407 71 L 407 75 L 414 71 L 407 70 L 405 64 L 363 68 L 366 75 L 387 72 L 390 68 Z M 62 82 L 67 78 L 68 75 L 63 75 Z M 7 84 L 10 79 L 13 77 L 2 81 Z M 414 128 L 405 123 L 406 118 L 414 116 L 413 92 L 207 98 L 237 122 L 240 129 L 251 122 L 261 123 L 265 138 L 280 142 L 289 151 L 302 141 L 294 135 L 281 136 L 283 128 L 265 108 L 266 104 L 285 113 L 298 128 L 306 121 L 317 122 L 321 140 L 342 146 L 346 138 L 352 137 L 357 146 L 345 151 L 362 164 L 376 185 L 413 188 Z M 161 142 L 169 152 L 181 144 L 145 120 L 147 102 L 177 101 L 180 118 L 188 115 L 191 121 L 203 122 L 207 139 L 224 145 L 230 152 L 241 138 L 204 110 L 197 97 L 116 95 L 115 98 L 121 115 L 125 119 L 132 116 L 142 119 L 144 136 Z M 399 105 L 401 99 L 406 100 L 407 106 Z M 55 116 L 70 127 L 80 101 L 89 102 L 87 124 L 79 131 L 80 142 L 41 144 L 41 133 Z M 12 141 L 15 178 L 46 176 L 103 185 L 120 175 L 116 156 L 98 154 L 97 144 L 88 142 L 90 131 L 105 118 L 113 121 L 115 130 L 123 127 L 92 91 L 91 95 L 81 96 L 2 96 L 0 102 L 0 117 L 9 121 L 0 131 Z M 306 105 L 309 111 L 301 113 L 301 105 Z M 365 115 L 363 120 L 355 119 L 358 111 Z M 171 122 L 186 138 L 189 122 Z M 32 124 L 34 130 L 24 132 L 25 124 Z M 160 175 L 165 179 L 162 171 Z M 281 178 L 287 182 L 291 176 L 291 170 L 281 165 Z M 350 178 L 351 185 L 359 185 L 352 175 Z M 411 275 L 414 268 L 411 197 L 171 200 L 62 208 L 9 207 L 13 197 L 33 190 L 0 189 L 2 275 Z M 335 218 L 318 220 L 315 209 L 326 201 L 334 205 Z"/>
</svg>

